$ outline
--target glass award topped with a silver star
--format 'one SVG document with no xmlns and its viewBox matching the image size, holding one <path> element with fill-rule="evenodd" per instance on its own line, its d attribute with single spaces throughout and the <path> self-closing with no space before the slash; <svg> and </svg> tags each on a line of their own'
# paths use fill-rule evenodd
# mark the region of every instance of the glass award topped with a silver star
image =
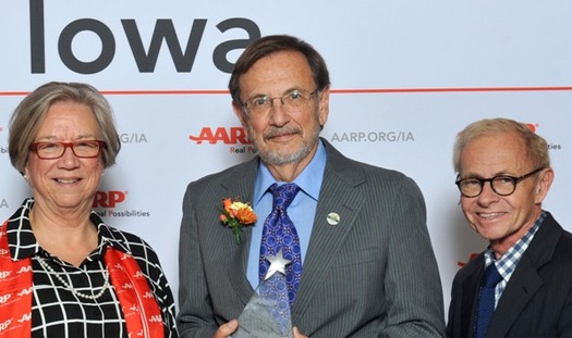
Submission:
<svg viewBox="0 0 572 338">
<path fill-rule="evenodd" d="M 266 259 L 270 262 L 268 273 L 239 316 L 239 329 L 232 338 L 293 337 L 285 281 L 285 265 L 290 261 L 282 256 L 282 249 Z"/>
</svg>

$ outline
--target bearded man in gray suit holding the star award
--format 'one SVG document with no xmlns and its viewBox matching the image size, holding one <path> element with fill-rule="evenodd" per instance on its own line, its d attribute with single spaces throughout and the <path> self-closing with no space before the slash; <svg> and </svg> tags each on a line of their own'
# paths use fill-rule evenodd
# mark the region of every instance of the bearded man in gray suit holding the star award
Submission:
<svg viewBox="0 0 572 338">
<path fill-rule="evenodd" d="M 352 161 L 319 137 L 329 87 L 322 58 L 291 36 L 261 38 L 239 58 L 229 89 L 258 155 L 187 187 L 180 238 L 182 337 L 226 337 L 240 325 L 234 318 L 260 280 L 275 183 L 301 189 L 288 208 L 302 256 L 295 300 L 289 293 L 294 337 L 445 335 L 423 196 L 403 174 Z M 223 198 L 252 203 L 258 215 L 239 238 L 221 225 L 217 206 Z M 287 273 L 287 280 L 294 278 Z"/>
</svg>

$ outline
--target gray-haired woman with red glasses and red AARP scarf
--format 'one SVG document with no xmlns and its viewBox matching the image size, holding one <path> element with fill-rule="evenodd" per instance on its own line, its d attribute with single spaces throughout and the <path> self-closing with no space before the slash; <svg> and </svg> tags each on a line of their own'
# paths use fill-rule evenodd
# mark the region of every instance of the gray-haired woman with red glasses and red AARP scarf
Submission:
<svg viewBox="0 0 572 338">
<path fill-rule="evenodd" d="M 94 87 L 49 83 L 10 120 L 32 197 L 0 229 L 1 337 L 177 337 L 171 289 L 142 238 L 92 210 L 121 148 Z"/>
</svg>

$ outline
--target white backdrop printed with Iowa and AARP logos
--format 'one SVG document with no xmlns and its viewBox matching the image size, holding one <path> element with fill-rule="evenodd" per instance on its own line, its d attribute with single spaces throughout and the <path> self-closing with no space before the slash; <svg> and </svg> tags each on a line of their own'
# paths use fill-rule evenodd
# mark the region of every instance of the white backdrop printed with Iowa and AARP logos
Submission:
<svg viewBox="0 0 572 338">
<path fill-rule="evenodd" d="M 299 36 L 325 57 L 332 79 L 325 138 L 418 183 L 446 309 L 458 263 L 486 247 L 466 225 L 453 184 L 452 143 L 466 124 L 504 116 L 544 136 L 557 176 L 544 206 L 572 229 L 572 1 L 0 5 L 0 218 L 29 195 L 7 153 L 13 109 L 46 82 L 89 83 L 113 105 L 123 142 L 98 210 L 155 247 L 175 297 L 186 184 L 252 157 L 227 84 L 245 40 L 260 35 Z"/>
</svg>

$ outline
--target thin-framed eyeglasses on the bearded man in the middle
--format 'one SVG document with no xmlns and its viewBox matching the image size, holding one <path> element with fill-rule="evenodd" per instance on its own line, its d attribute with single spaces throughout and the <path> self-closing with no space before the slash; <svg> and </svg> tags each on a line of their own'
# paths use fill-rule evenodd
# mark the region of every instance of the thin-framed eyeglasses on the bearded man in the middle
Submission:
<svg viewBox="0 0 572 338">
<path fill-rule="evenodd" d="M 318 89 L 314 91 L 307 91 L 304 89 L 294 89 L 281 97 L 270 98 L 269 96 L 259 96 L 251 98 L 244 102 L 242 107 L 246 110 L 248 116 L 263 116 L 266 115 L 273 107 L 276 99 L 280 99 L 282 103 L 281 109 L 290 114 L 295 111 L 304 110 L 308 108 L 309 99 L 318 92 Z"/>
</svg>

